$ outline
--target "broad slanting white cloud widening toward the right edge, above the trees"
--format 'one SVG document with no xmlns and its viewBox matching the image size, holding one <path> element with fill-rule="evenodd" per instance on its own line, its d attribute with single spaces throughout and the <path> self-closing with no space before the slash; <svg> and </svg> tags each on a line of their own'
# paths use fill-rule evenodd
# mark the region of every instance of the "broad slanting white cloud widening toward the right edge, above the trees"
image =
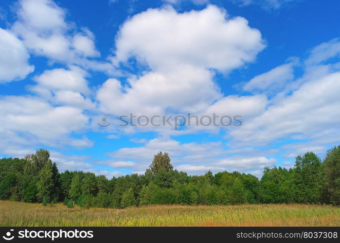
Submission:
<svg viewBox="0 0 340 243">
<path fill-rule="evenodd" d="M 287 136 L 313 138 L 340 124 L 340 72 L 305 82 L 291 95 L 268 107 L 266 112 L 233 130 L 235 140 L 269 142 Z"/>
</svg>

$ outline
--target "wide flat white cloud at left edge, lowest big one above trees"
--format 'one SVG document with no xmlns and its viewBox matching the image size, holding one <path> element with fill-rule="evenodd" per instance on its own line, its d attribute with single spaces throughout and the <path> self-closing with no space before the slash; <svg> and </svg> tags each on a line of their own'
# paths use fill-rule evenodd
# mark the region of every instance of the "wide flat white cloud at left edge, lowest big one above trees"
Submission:
<svg viewBox="0 0 340 243">
<path fill-rule="evenodd" d="M 85 129 L 88 123 L 81 109 L 54 107 L 36 97 L 5 96 L 0 107 L 0 132 L 31 139 L 32 144 L 38 141 L 57 146 L 62 139 L 68 144 L 69 134 Z"/>
</svg>

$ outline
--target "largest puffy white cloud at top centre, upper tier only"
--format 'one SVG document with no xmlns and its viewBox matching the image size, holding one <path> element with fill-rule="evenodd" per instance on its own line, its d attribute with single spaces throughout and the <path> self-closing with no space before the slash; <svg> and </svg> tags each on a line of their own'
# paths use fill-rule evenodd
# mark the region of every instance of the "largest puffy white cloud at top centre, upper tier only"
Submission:
<svg viewBox="0 0 340 243">
<path fill-rule="evenodd" d="M 231 18 L 213 5 L 181 14 L 166 6 L 123 24 L 113 60 L 117 64 L 135 56 L 153 70 L 190 64 L 228 71 L 254 61 L 264 47 L 261 33 L 243 17 Z"/>
</svg>

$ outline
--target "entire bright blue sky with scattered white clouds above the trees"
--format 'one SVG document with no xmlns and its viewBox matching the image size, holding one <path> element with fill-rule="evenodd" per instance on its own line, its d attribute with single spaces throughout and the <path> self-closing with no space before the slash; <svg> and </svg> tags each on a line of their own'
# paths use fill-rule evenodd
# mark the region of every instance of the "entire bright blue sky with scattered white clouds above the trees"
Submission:
<svg viewBox="0 0 340 243">
<path fill-rule="evenodd" d="M 338 0 L 1 0 L 0 157 L 59 171 L 292 167 L 340 144 Z M 122 126 L 119 117 L 241 116 Z M 140 120 L 143 121 L 142 119 Z"/>
</svg>

